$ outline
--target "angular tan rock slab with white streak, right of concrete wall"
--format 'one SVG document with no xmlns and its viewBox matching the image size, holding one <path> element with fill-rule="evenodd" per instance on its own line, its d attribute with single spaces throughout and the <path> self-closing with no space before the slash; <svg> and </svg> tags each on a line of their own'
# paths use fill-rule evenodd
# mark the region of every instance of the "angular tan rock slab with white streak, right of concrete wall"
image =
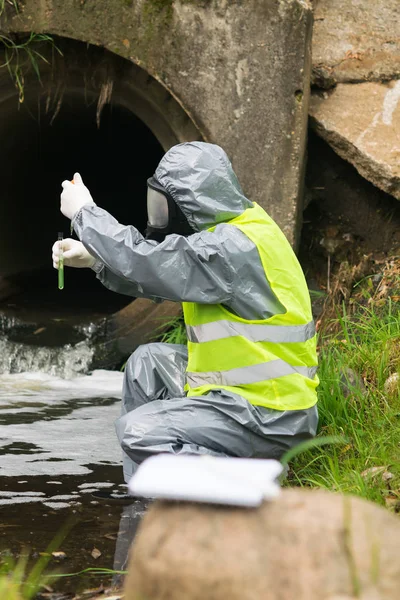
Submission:
<svg viewBox="0 0 400 600">
<path fill-rule="evenodd" d="M 400 200 L 400 80 L 315 92 L 310 122 L 360 175 Z"/>
</svg>

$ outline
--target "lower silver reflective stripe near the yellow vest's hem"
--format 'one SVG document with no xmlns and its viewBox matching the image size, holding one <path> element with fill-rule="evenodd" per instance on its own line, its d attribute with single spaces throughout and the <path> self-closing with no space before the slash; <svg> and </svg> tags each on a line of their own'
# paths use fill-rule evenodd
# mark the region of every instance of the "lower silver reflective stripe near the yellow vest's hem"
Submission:
<svg viewBox="0 0 400 600">
<path fill-rule="evenodd" d="M 208 371 L 201 373 L 186 373 L 187 382 L 191 387 L 197 387 L 206 384 L 212 385 L 247 385 L 257 381 L 267 381 L 268 379 L 277 379 L 285 375 L 299 373 L 309 379 L 314 379 L 317 367 L 293 367 L 284 360 L 271 360 L 267 363 L 253 365 L 251 367 L 241 367 L 239 369 L 230 369 L 229 371 Z"/>
</svg>

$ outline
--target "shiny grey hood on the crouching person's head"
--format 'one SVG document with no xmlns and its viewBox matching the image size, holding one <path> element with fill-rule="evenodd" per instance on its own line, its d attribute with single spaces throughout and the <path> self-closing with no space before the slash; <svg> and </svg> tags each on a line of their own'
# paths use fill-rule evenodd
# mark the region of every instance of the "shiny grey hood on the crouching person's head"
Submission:
<svg viewBox="0 0 400 600">
<path fill-rule="evenodd" d="M 155 178 L 167 190 L 194 231 L 230 221 L 253 204 L 245 197 L 222 148 L 206 142 L 173 146 Z"/>
</svg>

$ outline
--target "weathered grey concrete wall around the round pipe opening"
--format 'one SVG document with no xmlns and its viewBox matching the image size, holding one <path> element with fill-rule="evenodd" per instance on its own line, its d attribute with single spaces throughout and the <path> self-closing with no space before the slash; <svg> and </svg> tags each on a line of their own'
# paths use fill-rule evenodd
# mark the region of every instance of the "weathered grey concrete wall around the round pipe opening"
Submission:
<svg viewBox="0 0 400 600">
<path fill-rule="evenodd" d="M 206 141 L 230 156 L 248 196 L 296 245 L 309 99 L 308 0 L 25 0 L 5 32 L 44 32 L 139 65 Z M 0 112 L 1 119 L 1 112 Z"/>
</svg>

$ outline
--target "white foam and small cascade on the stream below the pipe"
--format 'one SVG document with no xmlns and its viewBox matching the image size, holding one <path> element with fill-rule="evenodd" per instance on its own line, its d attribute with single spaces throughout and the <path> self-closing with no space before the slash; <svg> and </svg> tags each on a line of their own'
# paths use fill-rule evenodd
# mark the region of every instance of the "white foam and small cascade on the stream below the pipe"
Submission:
<svg viewBox="0 0 400 600">
<path fill-rule="evenodd" d="M 123 373 L 88 374 L 92 357 L 89 339 L 45 348 L 0 338 L 0 476 L 29 478 L 31 487 L 32 477 L 44 475 L 61 485 L 58 478 L 92 473 L 92 465 L 121 464 L 114 421 Z M 0 495 L 0 504 L 38 501 L 32 492 Z"/>
</svg>

